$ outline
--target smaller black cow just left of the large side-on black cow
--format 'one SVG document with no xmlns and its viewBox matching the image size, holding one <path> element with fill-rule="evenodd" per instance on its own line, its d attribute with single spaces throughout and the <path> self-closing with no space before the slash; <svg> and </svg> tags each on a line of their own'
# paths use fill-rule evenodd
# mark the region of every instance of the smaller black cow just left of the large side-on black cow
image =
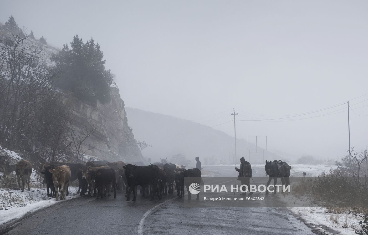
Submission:
<svg viewBox="0 0 368 235">
<path fill-rule="evenodd" d="M 91 181 L 96 182 L 98 195 L 96 199 L 106 197 L 109 186 L 112 184 L 114 188 L 114 198 L 116 198 L 116 178 L 113 168 L 100 168 L 98 170 L 88 169 L 91 174 Z M 102 195 L 102 190 L 105 186 L 105 193 Z M 107 196 L 111 196 L 110 193 Z"/>
</svg>

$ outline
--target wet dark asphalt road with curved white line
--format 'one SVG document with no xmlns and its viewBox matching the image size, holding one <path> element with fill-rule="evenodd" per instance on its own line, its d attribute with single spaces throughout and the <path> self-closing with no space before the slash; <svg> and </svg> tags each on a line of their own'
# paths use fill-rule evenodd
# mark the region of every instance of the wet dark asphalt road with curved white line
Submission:
<svg viewBox="0 0 368 235">
<path fill-rule="evenodd" d="M 252 169 L 254 176 L 263 176 L 263 168 Z M 235 175 L 234 167 L 206 166 L 204 170 Z M 126 202 L 123 192 L 116 199 L 82 196 L 34 213 L 6 234 L 312 234 L 286 209 L 188 208 L 186 199 L 187 192 L 184 199 L 174 192 L 153 202 L 141 195 L 136 202 Z"/>
</svg>

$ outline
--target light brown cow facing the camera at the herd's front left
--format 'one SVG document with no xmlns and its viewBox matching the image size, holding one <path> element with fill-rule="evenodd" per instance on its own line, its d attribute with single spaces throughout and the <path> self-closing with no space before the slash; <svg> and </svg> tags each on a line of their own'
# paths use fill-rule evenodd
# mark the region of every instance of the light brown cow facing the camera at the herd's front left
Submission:
<svg viewBox="0 0 368 235">
<path fill-rule="evenodd" d="M 59 200 L 59 188 L 60 188 L 60 200 L 65 199 L 65 189 L 68 188 L 70 180 L 70 168 L 67 165 L 59 165 L 55 169 L 49 170 L 52 173 L 52 179 L 54 180 L 55 198 Z"/>
</svg>

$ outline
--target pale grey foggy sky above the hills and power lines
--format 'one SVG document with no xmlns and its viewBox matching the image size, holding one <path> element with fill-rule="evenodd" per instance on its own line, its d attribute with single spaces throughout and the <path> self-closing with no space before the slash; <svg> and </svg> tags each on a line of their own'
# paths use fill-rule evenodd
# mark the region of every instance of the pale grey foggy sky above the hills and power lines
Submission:
<svg viewBox="0 0 368 235">
<path fill-rule="evenodd" d="M 2 1 L 0 21 L 13 14 L 59 48 L 93 37 L 126 106 L 198 122 L 229 110 L 203 123 L 215 126 L 232 108 L 299 114 L 368 93 L 367 10 L 367 1 Z M 367 121 L 350 113 L 357 150 L 368 145 Z M 236 125 L 239 138 L 267 135 L 270 151 L 336 158 L 348 149 L 347 112 Z M 215 128 L 234 135 L 232 122 Z"/>
</svg>

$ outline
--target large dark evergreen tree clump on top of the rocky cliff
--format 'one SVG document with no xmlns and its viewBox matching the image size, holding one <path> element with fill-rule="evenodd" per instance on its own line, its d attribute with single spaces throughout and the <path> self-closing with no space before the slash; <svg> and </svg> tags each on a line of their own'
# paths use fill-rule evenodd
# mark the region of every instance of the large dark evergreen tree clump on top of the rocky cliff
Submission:
<svg viewBox="0 0 368 235">
<path fill-rule="evenodd" d="M 64 44 L 60 53 L 53 55 L 52 61 L 62 71 L 58 86 L 72 92 L 83 100 L 106 103 L 110 100 L 109 86 L 113 81 L 110 70 L 105 69 L 105 60 L 99 44 L 93 38 L 85 44 L 75 35 L 73 41 Z"/>
</svg>

